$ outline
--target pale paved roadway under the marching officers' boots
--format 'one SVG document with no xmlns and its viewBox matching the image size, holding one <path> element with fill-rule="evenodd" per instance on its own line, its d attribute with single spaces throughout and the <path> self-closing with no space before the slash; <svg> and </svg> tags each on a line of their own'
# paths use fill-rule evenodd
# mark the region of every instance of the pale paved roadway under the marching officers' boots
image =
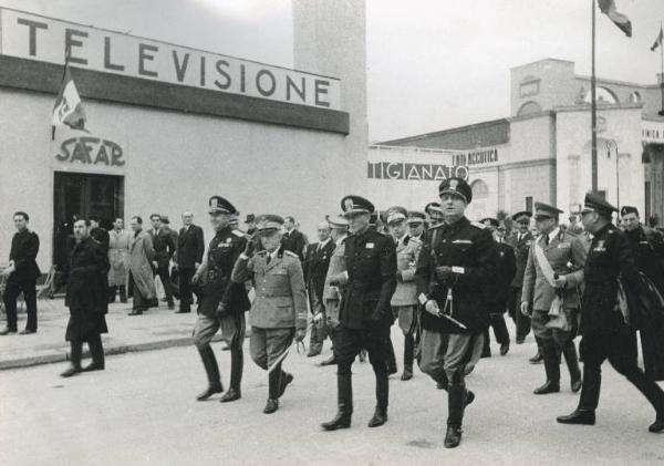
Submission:
<svg viewBox="0 0 664 466">
<path fill-rule="evenodd" d="M 510 329 L 511 330 L 511 329 Z M 393 333 L 397 346 L 401 338 Z M 228 381 L 228 352 L 217 354 Z M 464 442 L 443 447 L 445 393 L 426 376 L 391 381 L 390 422 L 370 429 L 373 375 L 354 365 L 351 429 L 321 432 L 335 412 L 335 375 L 292 354 L 295 381 L 279 412 L 262 414 L 266 374 L 246 360 L 242 400 L 198 403 L 205 376 L 191 346 L 107 359 L 107 369 L 69 380 L 62 364 L 0 374 L 1 465 L 200 464 L 664 464 L 664 435 L 647 433 L 654 413 L 608 365 L 598 425 L 561 426 L 577 395 L 535 396 L 542 366 L 526 362 L 532 342 L 483 360 L 469 379 L 477 400 L 466 413 Z M 324 354 L 323 356 L 326 356 Z"/>
</svg>

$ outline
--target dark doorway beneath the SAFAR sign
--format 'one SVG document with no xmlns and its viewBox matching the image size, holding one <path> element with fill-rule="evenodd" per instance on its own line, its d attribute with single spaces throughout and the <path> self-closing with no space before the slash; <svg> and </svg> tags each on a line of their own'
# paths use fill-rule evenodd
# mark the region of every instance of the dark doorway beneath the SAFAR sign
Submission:
<svg viewBox="0 0 664 466">
<path fill-rule="evenodd" d="M 124 215 L 124 177 L 55 172 L 53 263 L 62 270 L 73 246 L 73 225 L 89 215 L 101 217 L 111 229 Z"/>
</svg>

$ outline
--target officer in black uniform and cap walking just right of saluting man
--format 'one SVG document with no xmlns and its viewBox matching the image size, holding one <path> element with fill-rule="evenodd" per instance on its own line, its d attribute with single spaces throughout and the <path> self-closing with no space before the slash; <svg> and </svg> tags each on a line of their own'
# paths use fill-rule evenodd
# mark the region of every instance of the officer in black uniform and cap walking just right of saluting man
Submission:
<svg viewBox="0 0 664 466">
<path fill-rule="evenodd" d="M 377 427 L 387 422 L 388 376 L 386 359 L 390 327 L 394 321 L 390 300 L 396 288 L 396 252 L 392 238 L 370 226 L 375 208 L 360 196 L 345 196 L 341 208 L 351 236 L 345 240 L 346 270 L 331 280 L 345 283 L 340 325 L 334 341 L 336 359 L 336 416 L 323 423 L 325 431 L 347 428 L 353 413 L 351 366 L 362 349 L 369 352 L 376 380 L 376 408 L 369 422 Z"/>
</svg>

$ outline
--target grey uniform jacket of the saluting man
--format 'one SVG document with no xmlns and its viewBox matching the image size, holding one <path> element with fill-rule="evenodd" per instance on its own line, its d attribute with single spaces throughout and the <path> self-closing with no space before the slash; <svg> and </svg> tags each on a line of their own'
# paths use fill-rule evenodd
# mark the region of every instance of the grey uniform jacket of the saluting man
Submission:
<svg viewBox="0 0 664 466">
<path fill-rule="evenodd" d="M 251 279 L 256 298 L 249 319 L 260 329 L 307 329 L 307 290 L 300 259 L 283 247 L 267 263 L 268 252 L 260 251 L 251 258 L 240 256 L 232 269 L 231 279 L 245 283 Z"/>
</svg>

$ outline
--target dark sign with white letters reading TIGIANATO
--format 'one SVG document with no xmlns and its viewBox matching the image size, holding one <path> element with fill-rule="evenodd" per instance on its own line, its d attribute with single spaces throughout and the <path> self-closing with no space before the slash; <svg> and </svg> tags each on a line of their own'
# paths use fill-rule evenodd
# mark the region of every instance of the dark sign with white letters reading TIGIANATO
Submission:
<svg viewBox="0 0 664 466">
<path fill-rule="evenodd" d="M 367 178 L 439 182 L 450 176 L 468 179 L 468 167 L 402 162 L 369 162 Z"/>
</svg>

